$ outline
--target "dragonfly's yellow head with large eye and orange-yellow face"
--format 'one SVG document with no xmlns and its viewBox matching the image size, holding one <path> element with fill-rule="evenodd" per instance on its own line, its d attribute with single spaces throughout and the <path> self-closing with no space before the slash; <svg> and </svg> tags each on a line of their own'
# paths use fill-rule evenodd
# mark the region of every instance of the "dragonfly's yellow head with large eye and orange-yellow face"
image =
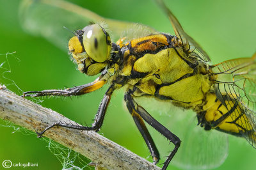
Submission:
<svg viewBox="0 0 256 170">
<path fill-rule="evenodd" d="M 111 40 L 104 28 L 93 24 L 77 30 L 68 42 L 68 49 L 80 72 L 96 75 L 108 65 Z"/>
</svg>

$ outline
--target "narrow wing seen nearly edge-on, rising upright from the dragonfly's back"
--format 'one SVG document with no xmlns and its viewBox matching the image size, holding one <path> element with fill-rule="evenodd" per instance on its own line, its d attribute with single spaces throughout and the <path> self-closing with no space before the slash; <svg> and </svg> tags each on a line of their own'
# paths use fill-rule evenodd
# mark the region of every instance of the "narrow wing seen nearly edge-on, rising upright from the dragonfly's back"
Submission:
<svg viewBox="0 0 256 170">
<path fill-rule="evenodd" d="M 196 58 L 199 58 L 205 62 L 211 61 L 209 56 L 206 54 L 206 52 L 198 45 L 198 43 L 189 36 L 182 26 L 179 23 L 179 20 L 173 15 L 173 13 L 166 7 L 166 5 L 163 3 L 163 0 L 156 0 L 157 4 L 163 9 L 163 11 L 166 13 L 168 18 L 170 19 L 170 22 L 172 23 L 173 30 L 175 32 L 175 35 L 177 38 L 179 38 L 182 45 L 184 45 L 185 50 L 190 52 L 190 55 L 195 56 Z"/>
</svg>

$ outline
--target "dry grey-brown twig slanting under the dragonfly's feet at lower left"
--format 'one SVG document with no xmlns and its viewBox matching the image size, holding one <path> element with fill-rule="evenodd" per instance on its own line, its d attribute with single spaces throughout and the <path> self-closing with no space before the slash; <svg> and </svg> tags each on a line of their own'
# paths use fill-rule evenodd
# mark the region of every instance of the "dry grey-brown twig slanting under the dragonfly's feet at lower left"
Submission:
<svg viewBox="0 0 256 170">
<path fill-rule="evenodd" d="M 33 132 L 40 132 L 45 127 L 60 120 L 76 124 L 58 112 L 15 95 L 3 86 L 0 88 L 0 118 L 12 121 Z M 47 130 L 44 135 L 81 153 L 84 157 L 90 158 L 100 167 L 108 169 L 160 169 L 96 132 L 81 132 L 70 128 L 54 127 Z"/>
</svg>

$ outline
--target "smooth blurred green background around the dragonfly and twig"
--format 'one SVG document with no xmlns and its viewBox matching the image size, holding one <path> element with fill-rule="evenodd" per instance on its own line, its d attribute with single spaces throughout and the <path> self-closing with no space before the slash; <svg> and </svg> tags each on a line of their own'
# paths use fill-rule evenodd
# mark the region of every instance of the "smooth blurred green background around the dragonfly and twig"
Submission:
<svg viewBox="0 0 256 170">
<path fill-rule="evenodd" d="M 173 34 L 168 19 L 152 1 L 72 2 L 104 17 L 140 22 L 152 26 L 158 31 Z M 10 84 L 8 88 L 20 95 L 17 86 L 22 91 L 31 91 L 71 87 L 93 81 L 95 77 L 87 77 L 76 70 L 76 66 L 67 55 L 67 50 L 58 49 L 44 38 L 31 36 L 22 29 L 18 16 L 19 4 L 18 0 L 0 0 L 0 54 L 3 54 L 0 56 L 1 63 L 6 61 L 5 54 L 7 52 L 16 52 L 13 55 L 8 55 L 10 68 L 8 63 L 3 65 L 11 72 L 4 73 L 6 78 L 2 77 L 1 83 Z M 232 58 L 250 57 L 255 52 L 256 1 L 176 0 L 168 1 L 168 7 L 172 8 L 173 13 L 188 34 L 195 38 L 209 54 L 213 64 Z M 67 41 L 70 36 L 67 35 Z M 19 58 L 20 62 L 16 58 Z M 17 86 L 12 85 L 12 81 Z M 106 91 L 106 87 L 84 97 L 65 100 L 63 98 L 43 98 L 44 102 L 41 104 L 78 123 L 86 121 L 89 124 L 94 118 L 104 91 Z M 183 111 L 175 109 L 175 112 L 182 114 Z M 168 122 L 168 116 L 157 112 L 150 113 L 157 120 Z M 36 169 L 62 168 L 60 161 L 48 150 L 48 142 L 37 139 L 35 134 L 29 134 L 24 130 L 15 132 L 12 127 L 6 127 L 6 122 L 3 120 L 0 120 L 0 124 L 1 164 L 3 160 L 9 159 L 12 162 L 21 163 L 38 162 Z M 150 129 L 155 140 L 161 138 L 161 135 L 153 131 Z M 141 157 L 147 158 L 150 155 L 131 116 L 124 109 L 123 91 L 115 93 L 112 98 L 100 134 Z M 179 134 L 177 135 L 179 136 Z M 245 139 L 237 137 L 229 137 L 229 139 L 227 160 L 216 169 L 255 169 L 255 149 L 246 143 Z M 166 150 L 161 155 L 167 155 L 167 151 L 170 151 L 172 146 L 168 146 L 167 141 L 163 144 L 166 145 Z M 0 169 L 2 168 L 0 165 Z M 35 169 L 35 167 L 30 169 Z M 169 169 L 179 168 L 171 163 Z"/>
</svg>

